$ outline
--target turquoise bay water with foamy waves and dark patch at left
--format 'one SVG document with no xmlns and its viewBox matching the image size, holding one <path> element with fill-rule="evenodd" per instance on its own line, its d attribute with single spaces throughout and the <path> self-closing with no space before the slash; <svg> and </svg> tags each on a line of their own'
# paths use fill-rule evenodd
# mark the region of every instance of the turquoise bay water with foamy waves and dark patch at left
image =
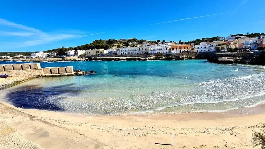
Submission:
<svg viewBox="0 0 265 149">
<path fill-rule="evenodd" d="M 7 63 L 22 62 L 0 62 Z M 224 111 L 265 101 L 265 66 L 206 60 L 41 62 L 55 66 L 97 73 L 36 78 L 8 88 L 5 101 L 82 115 Z"/>
</svg>

